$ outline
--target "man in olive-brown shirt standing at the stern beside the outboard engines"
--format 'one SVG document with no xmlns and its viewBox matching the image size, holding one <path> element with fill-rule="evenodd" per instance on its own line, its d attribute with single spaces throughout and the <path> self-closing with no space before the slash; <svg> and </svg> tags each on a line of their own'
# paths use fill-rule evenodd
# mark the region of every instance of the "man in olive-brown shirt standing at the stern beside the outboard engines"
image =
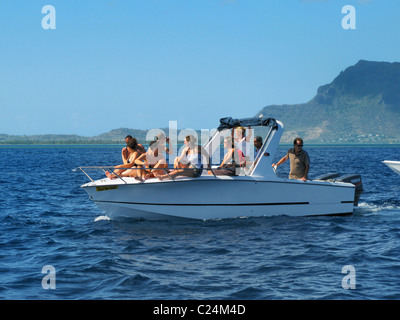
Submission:
<svg viewBox="0 0 400 320">
<path fill-rule="evenodd" d="M 279 166 L 288 159 L 290 160 L 289 179 L 306 181 L 310 170 L 310 157 L 307 151 L 303 150 L 302 138 L 294 139 L 293 148 L 289 149 L 286 156 L 279 160 L 278 163 L 273 163 L 272 166 Z"/>
</svg>

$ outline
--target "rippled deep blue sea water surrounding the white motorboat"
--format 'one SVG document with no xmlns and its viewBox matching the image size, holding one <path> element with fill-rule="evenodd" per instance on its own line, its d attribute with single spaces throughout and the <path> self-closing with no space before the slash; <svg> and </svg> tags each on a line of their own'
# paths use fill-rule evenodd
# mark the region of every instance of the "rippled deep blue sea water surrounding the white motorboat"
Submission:
<svg viewBox="0 0 400 320">
<path fill-rule="evenodd" d="M 311 176 L 362 175 L 352 216 L 111 221 L 72 169 L 120 146 L 1 147 L 0 299 L 400 299 L 400 175 L 381 163 L 400 147 L 305 150 Z"/>
</svg>

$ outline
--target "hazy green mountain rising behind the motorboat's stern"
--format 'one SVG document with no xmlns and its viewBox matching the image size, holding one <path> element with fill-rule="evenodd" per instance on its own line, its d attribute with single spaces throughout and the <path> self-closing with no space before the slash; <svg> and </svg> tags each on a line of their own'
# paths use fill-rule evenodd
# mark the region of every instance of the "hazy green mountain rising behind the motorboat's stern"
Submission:
<svg viewBox="0 0 400 320">
<path fill-rule="evenodd" d="M 360 60 L 307 103 L 271 105 L 256 116 L 274 117 L 285 127 L 282 142 L 399 143 L 400 63 Z"/>
</svg>

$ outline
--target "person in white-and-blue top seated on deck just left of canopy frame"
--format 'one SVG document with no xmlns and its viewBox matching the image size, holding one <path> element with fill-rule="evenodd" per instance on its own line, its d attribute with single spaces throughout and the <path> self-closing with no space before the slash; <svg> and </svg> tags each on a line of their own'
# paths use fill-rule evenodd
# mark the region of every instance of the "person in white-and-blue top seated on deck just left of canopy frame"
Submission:
<svg viewBox="0 0 400 320">
<path fill-rule="evenodd" d="M 207 157 L 206 151 L 198 145 L 195 145 L 196 138 L 188 135 L 184 140 L 185 148 L 179 157 L 175 158 L 174 168 L 169 174 L 156 175 L 159 180 L 165 178 L 175 178 L 177 176 L 199 177 L 203 172 L 202 155 Z"/>
</svg>

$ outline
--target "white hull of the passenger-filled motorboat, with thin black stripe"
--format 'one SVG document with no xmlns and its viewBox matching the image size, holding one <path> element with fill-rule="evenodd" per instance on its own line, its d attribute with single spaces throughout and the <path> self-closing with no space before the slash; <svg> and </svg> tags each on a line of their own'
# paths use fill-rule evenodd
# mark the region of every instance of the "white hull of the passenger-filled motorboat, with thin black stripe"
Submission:
<svg viewBox="0 0 400 320">
<path fill-rule="evenodd" d="M 111 184 L 103 179 L 82 187 L 111 219 L 207 220 L 353 212 L 355 189 L 349 183 L 264 181 L 248 177 L 154 180 Z"/>
</svg>

